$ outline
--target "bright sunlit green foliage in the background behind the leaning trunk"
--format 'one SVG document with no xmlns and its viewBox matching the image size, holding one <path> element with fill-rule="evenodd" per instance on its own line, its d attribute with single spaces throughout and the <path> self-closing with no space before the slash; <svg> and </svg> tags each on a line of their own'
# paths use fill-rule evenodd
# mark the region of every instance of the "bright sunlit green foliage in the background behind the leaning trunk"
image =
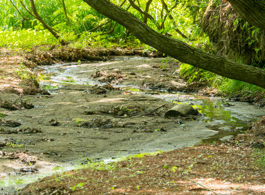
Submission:
<svg viewBox="0 0 265 195">
<path fill-rule="evenodd" d="M 131 45 L 129 45 L 129 43 L 125 44 L 124 39 L 127 31 L 120 24 L 116 24 L 112 33 L 101 35 L 101 33 L 111 30 L 115 22 L 106 23 L 109 21 L 108 18 L 92 9 L 82 0 L 65 1 L 69 21 L 66 20 L 61 1 L 44 0 L 41 2 L 34 2 L 39 16 L 42 17 L 46 24 L 60 31 L 58 34 L 60 36 L 59 40 L 56 40 L 44 29 L 43 25 L 38 20 L 32 17 L 21 5 L 20 1 L 13 0 L 13 2 L 19 12 L 24 17 L 31 20 L 23 20 L 22 16 L 9 0 L 2 0 L 0 4 L 1 10 L 3 10 L 0 15 L 0 30 L 2 30 L 0 33 L 0 39 L 2 40 L 0 43 L 1 47 L 30 48 L 36 44 L 52 45 L 54 42 L 59 42 L 62 39 L 69 41 L 70 47 L 75 48 L 82 48 L 87 45 L 103 47 L 115 47 L 117 45 L 127 45 L 131 47 L 135 45 L 139 48 L 143 46 L 139 39 L 136 39 L 131 33 L 127 37 L 127 41 L 131 43 Z M 21 2 L 32 12 L 30 1 L 22 0 Z M 120 4 L 121 2 L 113 1 L 113 3 Z M 169 9 L 173 6 L 169 1 L 166 1 L 166 3 Z M 145 9 L 145 1 L 138 1 L 136 4 L 142 9 Z M 178 3 L 170 12 L 175 21 L 175 23 L 173 23 L 173 20 L 169 19 L 169 17 L 166 17 L 166 19 L 157 17 L 157 13 L 160 13 L 162 9 L 162 4 L 160 0 L 154 0 L 149 7 L 149 14 L 151 14 L 156 21 L 148 19 L 147 25 L 159 33 L 170 33 L 173 35 L 172 38 L 180 39 L 192 46 L 198 45 L 200 42 L 207 42 L 207 37 L 200 35 L 200 17 L 202 15 L 198 15 L 198 13 L 203 14 L 207 4 L 208 1 L 199 3 L 195 0 L 183 0 L 182 3 Z M 128 6 L 129 2 L 125 2 L 122 8 L 127 9 Z M 130 7 L 128 11 L 143 20 L 142 14 L 134 8 Z M 164 12 L 166 13 L 165 10 Z M 195 22 L 193 22 L 193 20 L 195 20 Z M 91 29 L 101 24 L 104 25 L 90 32 Z M 157 26 L 161 24 L 164 25 L 164 28 L 157 28 Z M 23 29 L 21 30 L 21 28 Z M 180 36 L 180 34 L 175 31 L 176 29 L 182 31 L 188 38 Z M 200 41 L 193 40 L 197 37 L 199 37 L 197 40 Z"/>
</svg>

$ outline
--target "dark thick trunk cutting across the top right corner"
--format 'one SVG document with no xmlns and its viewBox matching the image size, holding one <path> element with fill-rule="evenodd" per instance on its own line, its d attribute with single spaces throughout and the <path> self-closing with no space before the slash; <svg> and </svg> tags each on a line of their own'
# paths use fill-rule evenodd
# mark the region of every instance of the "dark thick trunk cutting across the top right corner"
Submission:
<svg viewBox="0 0 265 195">
<path fill-rule="evenodd" d="M 240 16 L 253 26 L 265 30 L 265 0 L 227 0 Z"/>
</svg>

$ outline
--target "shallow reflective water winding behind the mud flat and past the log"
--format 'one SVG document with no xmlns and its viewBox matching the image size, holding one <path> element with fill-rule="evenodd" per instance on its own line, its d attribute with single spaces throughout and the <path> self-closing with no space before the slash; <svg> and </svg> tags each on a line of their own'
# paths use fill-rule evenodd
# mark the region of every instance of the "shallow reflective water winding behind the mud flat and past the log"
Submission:
<svg viewBox="0 0 265 195">
<path fill-rule="evenodd" d="M 115 60 L 134 60 L 143 59 L 143 57 L 134 58 L 115 58 Z M 62 84 L 82 84 L 82 85 L 103 85 L 102 83 L 96 82 L 92 79 L 83 78 L 77 79 L 76 75 L 73 75 L 71 69 L 86 66 L 87 71 L 81 72 L 94 72 L 98 67 L 95 65 L 98 63 L 82 62 L 74 64 L 64 64 L 64 65 L 53 65 L 53 66 L 43 66 L 38 68 L 36 71 L 41 72 L 42 82 L 41 85 L 44 89 L 53 89 L 61 87 Z M 79 73 L 78 73 L 79 74 Z M 211 122 L 214 121 L 217 124 L 210 126 L 209 129 L 215 131 L 221 131 L 218 133 L 217 139 L 205 138 L 202 143 L 212 143 L 213 141 L 218 141 L 222 137 L 229 135 L 237 135 L 242 131 L 246 131 L 248 128 L 249 120 L 257 120 L 258 117 L 254 114 L 243 113 L 238 114 L 234 111 L 234 107 L 225 107 L 230 101 L 224 100 L 223 98 L 209 98 L 204 96 L 194 96 L 187 93 L 166 93 L 165 90 L 149 90 L 140 89 L 135 86 L 122 86 L 115 85 L 115 87 L 121 87 L 124 90 L 130 90 L 131 92 L 136 92 L 138 94 L 145 94 L 146 92 L 156 92 L 160 95 L 155 95 L 155 97 L 165 99 L 166 101 L 173 103 L 185 103 L 191 105 L 195 109 L 200 109 L 199 112 L 204 115 L 204 121 Z M 147 94 L 148 95 L 148 94 Z M 231 103 L 233 104 L 233 103 Z"/>
</svg>

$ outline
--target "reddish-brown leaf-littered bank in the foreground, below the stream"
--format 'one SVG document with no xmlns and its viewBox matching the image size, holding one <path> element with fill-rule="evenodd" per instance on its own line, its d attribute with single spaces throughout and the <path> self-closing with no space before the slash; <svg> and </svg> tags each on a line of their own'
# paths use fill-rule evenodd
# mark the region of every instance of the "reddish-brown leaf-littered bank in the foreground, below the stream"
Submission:
<svg viewBox="0 0 265 195">
<path fill-rule="evenodd" d="M 255 159 L 240 146 L 197 145 L 56 174 L 18 194 L 263 194 Z"/>
</svg>

